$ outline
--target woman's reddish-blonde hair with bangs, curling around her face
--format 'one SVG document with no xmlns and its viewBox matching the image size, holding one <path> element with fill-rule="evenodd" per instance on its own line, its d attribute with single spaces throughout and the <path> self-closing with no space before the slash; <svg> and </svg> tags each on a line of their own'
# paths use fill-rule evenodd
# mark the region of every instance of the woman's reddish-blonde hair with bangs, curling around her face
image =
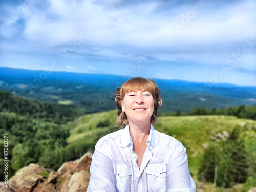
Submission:
<svg viewBox="0 0 256 192">
<path fill-rule="evenodd" d="M 133 77 L 127 80 L 125 83 L 123 83 L 121 87 L 117 88 L 115 93 L 115 103 L 117 108 L 119 109 L 117 112 L 117 124 L 120 127 L 129 125 L 128 118 L 125 112 L 122 111 L 121 102 L 124 99 L 126 93 L 129 93 L 130 91 L 134 90 L 146 90 L 152 94 L 155 109 L 151 116 L 150 121 L 153 124 L 157 119 L 157 109 L 162 105 L 162 99 L 159 97 L 160 90 L 157 84 L 155 83 L 155 81 L 151 79 L 145 79 L 143 77 Z"/>
</svg>

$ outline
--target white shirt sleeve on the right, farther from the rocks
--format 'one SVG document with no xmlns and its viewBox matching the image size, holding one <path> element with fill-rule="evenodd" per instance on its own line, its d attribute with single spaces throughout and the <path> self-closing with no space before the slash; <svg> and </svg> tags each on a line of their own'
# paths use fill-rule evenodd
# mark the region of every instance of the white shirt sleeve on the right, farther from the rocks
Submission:
<svg viewBox="0 0 256 192">
<path fill-rule="evenodd" d="M 196 185 L 189 173 L 186 148 L 177 143 L 167 167 L 167 191 L 196 192 Z"/>
</svg>

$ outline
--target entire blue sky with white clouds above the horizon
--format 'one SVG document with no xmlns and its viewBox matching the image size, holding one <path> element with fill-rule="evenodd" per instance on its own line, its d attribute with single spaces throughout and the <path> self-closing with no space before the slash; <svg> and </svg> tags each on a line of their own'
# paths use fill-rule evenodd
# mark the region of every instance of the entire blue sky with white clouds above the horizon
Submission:
<svg viewBox="0 0 256 192">
<path fill-rule="evenodd" d="M 0 67 L 256 86 L 256 1 L 0 0 Z"/>
</svg>

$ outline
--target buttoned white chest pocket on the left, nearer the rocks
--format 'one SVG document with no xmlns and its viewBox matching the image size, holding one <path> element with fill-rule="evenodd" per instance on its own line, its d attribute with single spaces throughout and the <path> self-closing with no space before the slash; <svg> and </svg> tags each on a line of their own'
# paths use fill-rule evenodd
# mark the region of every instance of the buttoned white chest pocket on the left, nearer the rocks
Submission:
<svg viewBox="0 0 256 192">
<path fill-rule="evenodd" d="M 128 192 L 131 186 L 131 167 L 126 164 L 114 164 L 115 187 L 118 192 Z"/>
</svg>

